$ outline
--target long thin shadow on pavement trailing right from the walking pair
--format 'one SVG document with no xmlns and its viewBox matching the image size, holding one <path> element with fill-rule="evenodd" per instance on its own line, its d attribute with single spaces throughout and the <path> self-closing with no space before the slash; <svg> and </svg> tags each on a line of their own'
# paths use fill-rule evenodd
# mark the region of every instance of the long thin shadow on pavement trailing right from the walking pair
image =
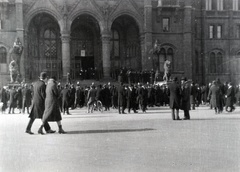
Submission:
<svg viewBox="0 0 240 172">
<path fill-rule="evenodd" d="M 67 134 L 96 134 L 96 133 L 121 133 L 121 132 L 140 132 L 152 131 L 152 128 L 143 129 L 116 129 L 116 130 L 83 130 L 83 131 L 67 131 Z"/>
</svg>

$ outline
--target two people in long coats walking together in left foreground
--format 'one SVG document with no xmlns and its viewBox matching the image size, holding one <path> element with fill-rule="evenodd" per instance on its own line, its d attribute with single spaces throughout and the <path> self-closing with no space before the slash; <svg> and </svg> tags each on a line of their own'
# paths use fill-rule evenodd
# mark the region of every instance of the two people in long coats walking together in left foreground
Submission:
<svg viewBox="0 0 240 172">
<path fill-rule="evenodd" d="M 34 134 L 31 131 L 31 127 L 36 118 L 42 119 L 42 125 L 40 126 L 38 133 L 43 133 L 43 128 L 47 133 L 55 133 L 56 131 L 51 130 L 48 121 L 57 121 L 59 127 L 59 133 L 66 133 L 62 129 L 61 125 L 61 112 L 58 104 L 58 89 L 55 78 L 51 78 L 47 82 L 47 74 L 42 72 L 40 74 L 39 80 L 34 84 L 33 87 L 33 101 L 32 101 L 32 109 L 29 115 L 29 122 L 26 128 L 26 133 Z"/>
</svg>

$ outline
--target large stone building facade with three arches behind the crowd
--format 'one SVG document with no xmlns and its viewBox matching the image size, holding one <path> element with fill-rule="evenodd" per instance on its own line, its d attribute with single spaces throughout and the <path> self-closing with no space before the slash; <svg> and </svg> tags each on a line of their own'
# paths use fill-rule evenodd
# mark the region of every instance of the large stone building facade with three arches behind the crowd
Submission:
<svg viewBox="0 0 240 172">
<path fill-rule="evenodd" d="M 10 82 L 19 38 L 19 77 L 40 72 L 78 80 L 89 68 L 163 72 L 200 84 L 240 81 L 240 0 L 0 0 L 0 86 Z"/>
</svg>

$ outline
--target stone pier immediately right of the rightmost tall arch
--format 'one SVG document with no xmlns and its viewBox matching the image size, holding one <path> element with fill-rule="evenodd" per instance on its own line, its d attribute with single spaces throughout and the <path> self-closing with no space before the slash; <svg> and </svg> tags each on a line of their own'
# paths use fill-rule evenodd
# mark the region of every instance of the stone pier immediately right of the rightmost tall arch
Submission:
<svg viewBox="0 0 240 172">
<path fill-rule="evenodd" d="M 144 38 L 144 52 L 142 52 L 142 69 L 150 70 L 153 68 L 151 60 L 148 60 L 149 51 L 153 48 L 152 41 L 152 1 L 144 0 L 144 34 L 142 38 Z"/>
</svg>

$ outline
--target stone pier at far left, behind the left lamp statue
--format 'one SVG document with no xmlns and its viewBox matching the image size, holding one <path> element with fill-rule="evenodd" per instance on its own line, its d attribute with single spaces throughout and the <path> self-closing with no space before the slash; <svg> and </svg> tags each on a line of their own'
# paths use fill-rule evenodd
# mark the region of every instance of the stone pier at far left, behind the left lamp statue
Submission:
<svg viewBox="0 0 240 172">
<path fill-rule="evenodd" d="M 16 32 L 17 36 L 22 45 L 25 47 L 24 44 L 24 29 L 23 29 L 23 2 L 22 0 L 16 0 Z M 13 44 L 13 43 L 12 43 Z M 25 48 L 24 48 L 25 50 Z M 22 79 L 25 79 L 25 52 L 22 52 L 22 55 L 20 57 L 19 61 L 19 72 L 21 74 Z"/>
</svg>

